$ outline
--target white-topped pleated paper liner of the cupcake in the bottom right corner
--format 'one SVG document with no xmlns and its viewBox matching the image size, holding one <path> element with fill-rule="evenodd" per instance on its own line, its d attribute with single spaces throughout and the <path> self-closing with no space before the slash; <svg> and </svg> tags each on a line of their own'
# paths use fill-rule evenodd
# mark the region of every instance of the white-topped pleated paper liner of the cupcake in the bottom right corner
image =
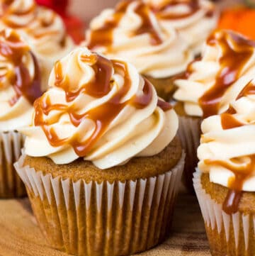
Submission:
<svg viewBox="0 0 255 256">
<path fill-rule="evenodd" d="M 254 256 L 255 216 L 237 212 L 228 215 L 222 205 L 206 194 L 200 182 L 201 173 L 194 173 L 194 188 L 205 221 L 212 256 Z"/>
</svg>

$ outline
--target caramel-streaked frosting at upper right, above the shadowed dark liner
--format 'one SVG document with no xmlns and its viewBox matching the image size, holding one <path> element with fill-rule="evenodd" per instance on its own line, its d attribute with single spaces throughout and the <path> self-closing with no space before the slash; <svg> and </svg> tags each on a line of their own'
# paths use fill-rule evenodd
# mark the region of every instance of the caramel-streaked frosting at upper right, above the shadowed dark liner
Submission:
<svg viewBox="0 0 255 256">
<path fill-rule="evenodd" d="M 254 78 L 255 41 L 232 30 L 215 30 L 202 56 L 175 80 L 174 99 L 183 102 L 188 116 L 206 118 L 223 113 L 236 88 Z"/>
</svg>

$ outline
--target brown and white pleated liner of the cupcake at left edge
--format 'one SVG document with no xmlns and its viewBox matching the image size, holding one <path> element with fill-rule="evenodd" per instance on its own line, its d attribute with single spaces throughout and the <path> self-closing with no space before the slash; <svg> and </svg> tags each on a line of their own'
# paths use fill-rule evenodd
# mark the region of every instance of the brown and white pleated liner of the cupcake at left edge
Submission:
<svg viewBox="0 0 255 256">
<path fill-rule="evenodd" d="M 13 163 L 21 156 L 24 137 L 16 131 L 0 132 L 0 198 L 26 195 Z"/>
</svg>

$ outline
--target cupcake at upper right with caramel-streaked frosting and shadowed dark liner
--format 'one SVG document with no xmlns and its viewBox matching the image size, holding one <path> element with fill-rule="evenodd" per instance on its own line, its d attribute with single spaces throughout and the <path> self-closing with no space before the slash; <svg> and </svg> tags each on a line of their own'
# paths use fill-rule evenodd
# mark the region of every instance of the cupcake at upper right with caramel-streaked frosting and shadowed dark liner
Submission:
<svg viewBox="0 0 255 256">
<path fill-rule="evenodd" d="M 202 57 L 191 62 L 174 93 L 179 114 L 179 136 L 186 149 L 184 181 L 192 187 L 193 171 L 198 163 L 196 150 L 200 139 L 200 122 L 223 113 L 233 100 L 230 91 L 247 83 L 255 74 L 255 42 L 230 30 L 215 30 L 204 45 Z"/>
</svg>

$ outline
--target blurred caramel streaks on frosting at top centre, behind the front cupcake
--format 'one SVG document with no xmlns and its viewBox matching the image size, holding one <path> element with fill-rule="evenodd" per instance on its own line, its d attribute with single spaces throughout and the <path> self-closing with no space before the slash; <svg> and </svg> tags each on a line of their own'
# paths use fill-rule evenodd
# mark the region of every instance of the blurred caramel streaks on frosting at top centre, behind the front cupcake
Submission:
<svg viewBox="0 0 255 256">
<path fill-rule="evenodd" d="M 113 31 L 118 27 L 121 19 L 125 15 L 128 7 L 132 4 L 134 0 L 124 0 L 121 1 L 115 8 L 113 16 L 109 18 L 101 28 L 96 30 L 91 30 L 91 35 L 89 39 L 89 49 L 95 49 L 96 47 L 105 46 L 110 48 L 113 43 Z M 137 1 L 137 6 L 135 8 L 135 13 L 142 18 L 142 25 L 140 28 L 134 32 L 133 35 L 141 35 L 143 33 L 149 33 L 151 37 L 152 45 L 159 45 L 162 43 L 160 35 L 157 33 L 156 28 L 152 23 L 151 17 L 149 15 L 149 7 L 143 1 Z"/>
</svg>

